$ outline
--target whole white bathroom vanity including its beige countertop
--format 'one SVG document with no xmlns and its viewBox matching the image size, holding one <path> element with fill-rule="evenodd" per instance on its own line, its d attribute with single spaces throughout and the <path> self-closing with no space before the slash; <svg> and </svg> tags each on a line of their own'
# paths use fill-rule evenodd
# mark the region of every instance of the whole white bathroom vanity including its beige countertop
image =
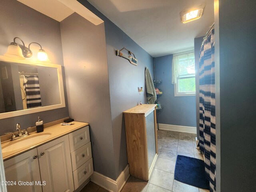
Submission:
<svg viewBox="0 0 256 192">
<path fill-rule="evenodd" d="M 8 192 L 73 192 L 93 173 L 88 123 L 57 124 L 1 145 Z"/>
</svg>

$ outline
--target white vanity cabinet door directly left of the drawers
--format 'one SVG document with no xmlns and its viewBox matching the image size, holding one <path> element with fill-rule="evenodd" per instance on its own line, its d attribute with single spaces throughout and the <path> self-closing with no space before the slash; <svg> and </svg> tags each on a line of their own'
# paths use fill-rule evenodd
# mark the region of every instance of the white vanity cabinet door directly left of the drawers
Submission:
<svg viewBox="0 0 256 192">
<path fill-rule="evenodd" d="M 74 183 L 68 135 L 37 148 L 44 192 L 72 192 Z"/>
</svg>

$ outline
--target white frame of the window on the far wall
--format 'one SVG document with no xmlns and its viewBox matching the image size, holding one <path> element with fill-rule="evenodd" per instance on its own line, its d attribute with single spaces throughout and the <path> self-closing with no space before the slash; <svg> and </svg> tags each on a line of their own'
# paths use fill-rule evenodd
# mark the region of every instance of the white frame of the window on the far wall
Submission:
<svg viewBox="0 0 256 192">
<path fill-rule="evenodd" d="M 173 56 L 178 56 L 178 55 L 183 55 L 183 54 L 188 54 L 188 53 L 193 53 L 194 50 L 189 50 L 189 51 L 186 51 L 186 52 L 180 52 L 180 53 L 176 53 L 176 54 L 173 54 Z M 175 97 L 186 97 L 186 96 L 196 96 L 196 92 L 178 92 L 178 83 L 179 83 L 179 79 L 186 79 L 186 78 L 191 78 L 191 77 L 196 77 L 196 74 L 189 74 L 187 76 L 182 76 L 182 77 L 177 77 L 176 79 L 176 84 L 174 84 L 174 96 Z"/>
</svg>

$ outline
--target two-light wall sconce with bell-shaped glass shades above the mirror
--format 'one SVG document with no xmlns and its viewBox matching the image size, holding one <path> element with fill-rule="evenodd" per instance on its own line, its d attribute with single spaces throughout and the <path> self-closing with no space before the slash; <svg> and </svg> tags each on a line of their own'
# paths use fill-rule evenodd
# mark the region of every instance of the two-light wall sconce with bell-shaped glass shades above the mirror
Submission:
<svg viewBox="0 0 256 192">
<path fill-rule="evenodd" d="M 16 38 L 21 40 L 23 46 L 18 45 L 15 42 Z M 32 42 L 32 43 L 38 44 L 40 46 L 40 49 L 39 49 L 38 54 L 37 54 L 38 61 L 40 61 L 40 62 L 51 62 L 49 60 L 48 55 L 46 54 L 46 52 L 42 49 L 42 46 L 39 43 L 36 43 L 36 42 Z M 18 60 L 24 60 L 25 58 L 29 58 L 33 55 L 32 51 L 30 50 L 30 45 L 32 43 L 30 43 L 28 45 L 28 48 L 27 48 L 21 38 L 15 37 L 13 39 L 13 42 L 11 42 L 11 44 L 8 46 L 7 52 L 6 52 L 6 54 L 4 54 L 4 56 L 14 58 L 14 59 L 18 59 Z"/>
</svg>

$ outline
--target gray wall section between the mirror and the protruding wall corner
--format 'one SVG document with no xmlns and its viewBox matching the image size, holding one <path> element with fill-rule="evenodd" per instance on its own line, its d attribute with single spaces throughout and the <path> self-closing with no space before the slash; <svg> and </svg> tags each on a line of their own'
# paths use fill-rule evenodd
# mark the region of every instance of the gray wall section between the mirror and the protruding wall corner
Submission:
<svg viewBox="0 0 256 192">
<path fill-rule="evenodd" d="M 69 114 L 90 124 L 94 171 L 115 177 L 104 23 L 74 13 L 60 22 Z"/>
</svg>

